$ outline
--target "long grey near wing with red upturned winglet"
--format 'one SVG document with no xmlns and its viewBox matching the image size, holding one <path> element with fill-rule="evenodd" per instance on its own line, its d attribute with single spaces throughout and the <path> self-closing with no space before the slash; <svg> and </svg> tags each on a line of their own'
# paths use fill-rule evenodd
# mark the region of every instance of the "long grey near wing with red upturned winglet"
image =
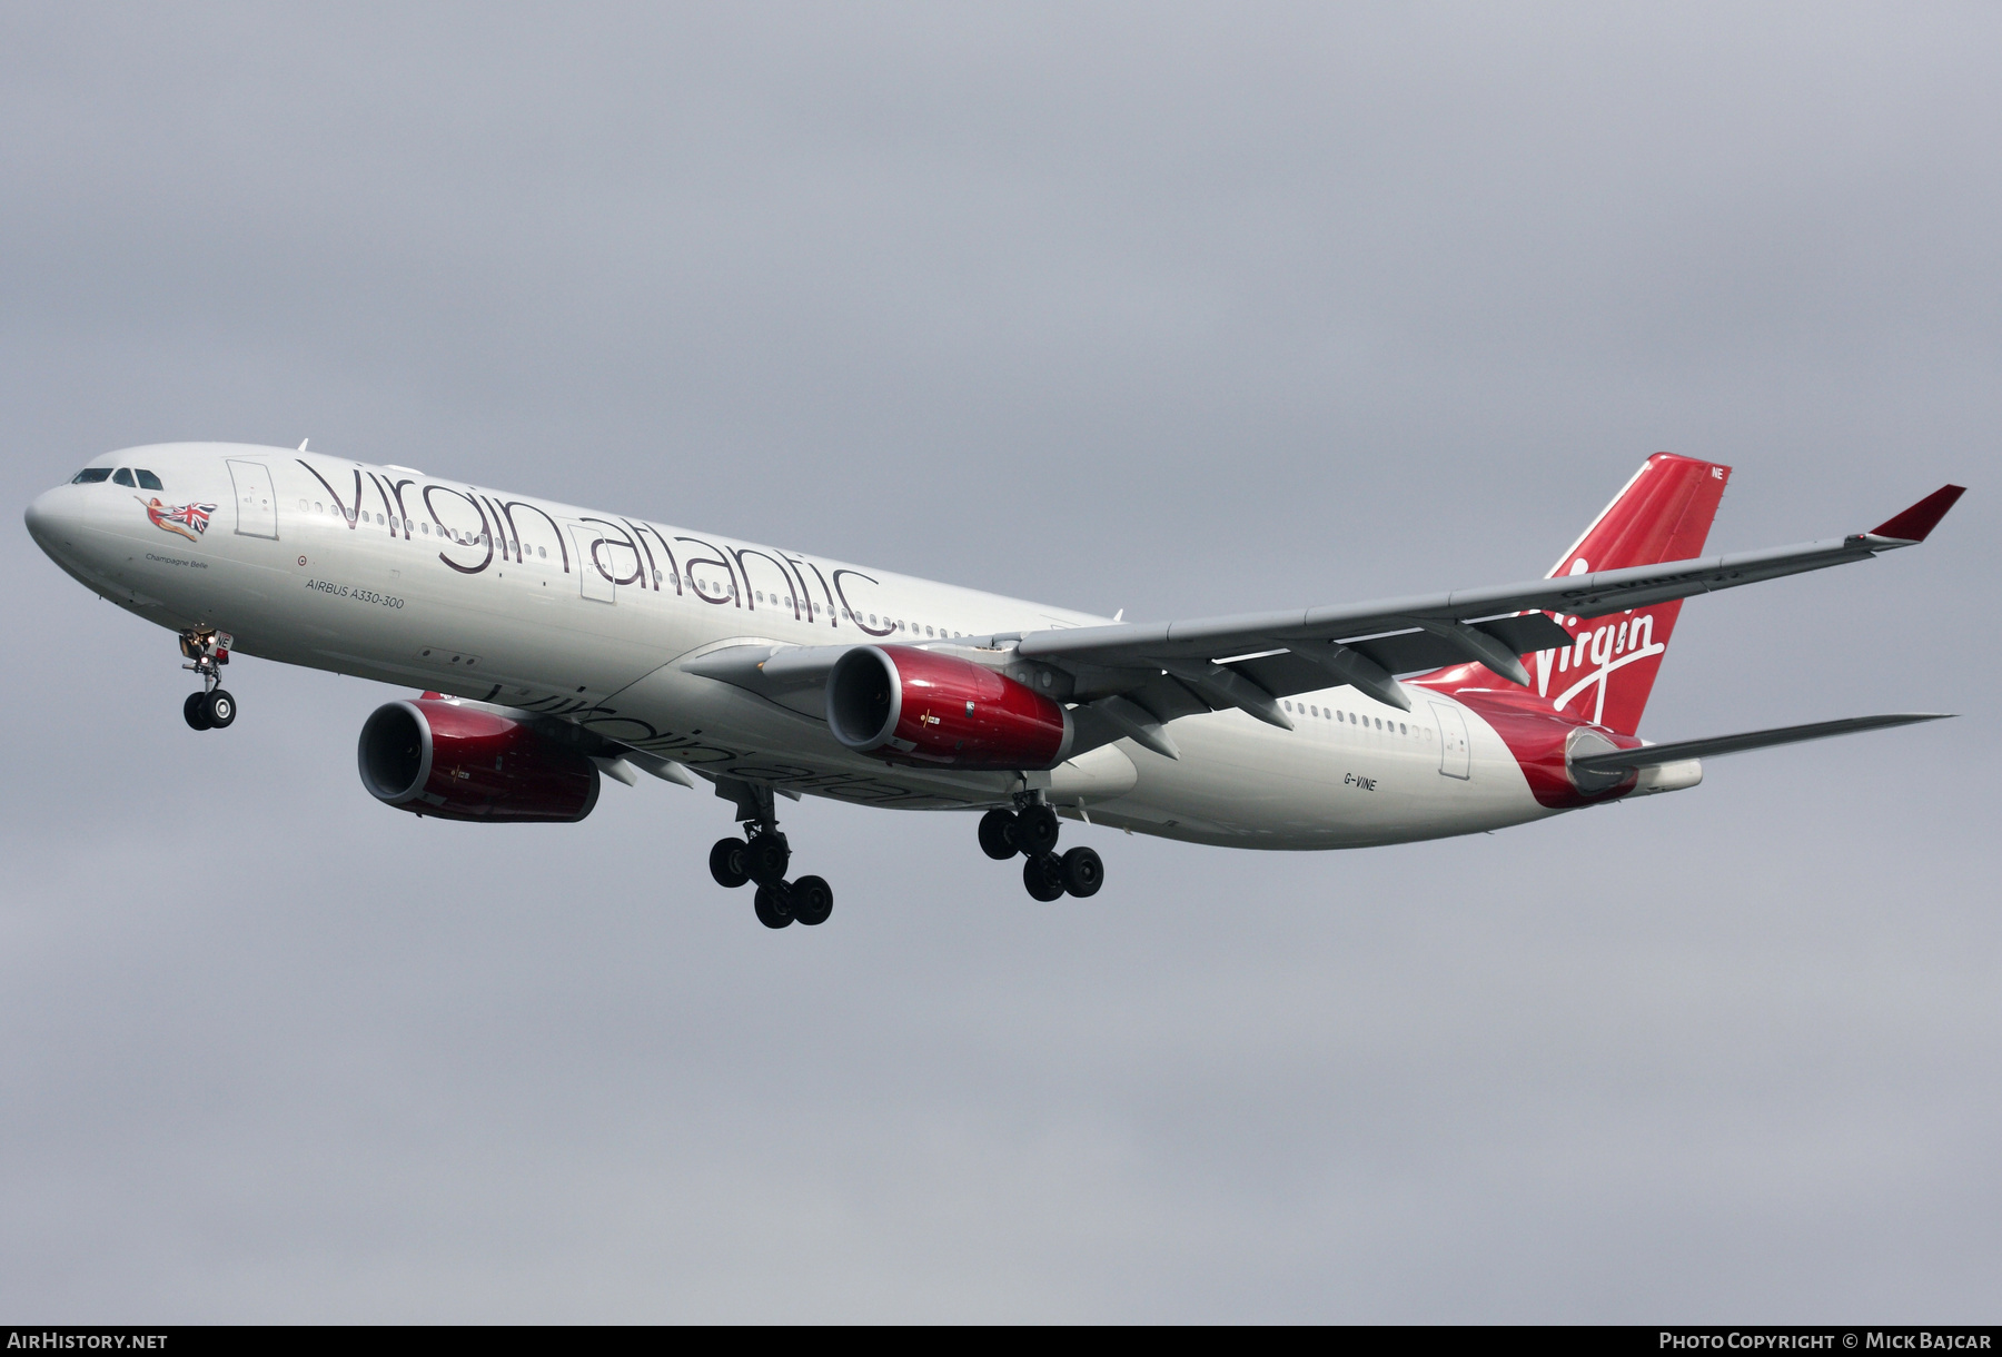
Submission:
<svg viewBox="0 0 2002 1357">
<path fill-rule="evenodd" d="M 1960 494 L 1962 486 L 1942 486 L 1870 532 L 1798 546 L 1329 608 L 1035 630 L 979 644 L 1011 646 L 1023 660 L 1067 672 L 1075 701 L 1091 703 L 1113 725 L 1153 727 L 1155 723 L 1225 707 L 1291 729 L 1277 699 L 1343 683 L 1409 711 L 1395 674 L 1477 660 L 1528 685 L 1522 654 L 1572 644 L 1550 612 L 1604 616 L 1868 560 L 1922 542 Z M 1109 697 L 1147 711 L 1101 707 L 1099 699 Z"/>
</svg>

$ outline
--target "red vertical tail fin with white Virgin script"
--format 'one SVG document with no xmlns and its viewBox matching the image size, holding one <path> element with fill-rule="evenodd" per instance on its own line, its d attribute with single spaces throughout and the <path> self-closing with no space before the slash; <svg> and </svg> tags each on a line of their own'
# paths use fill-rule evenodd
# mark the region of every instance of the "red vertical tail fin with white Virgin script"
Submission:
<svg viewBox="0 0 2002 1357">
<path fill-rule="evenodd" d="M 1730 466 L 1656 452 L 1550 574 L 1700 556 L 1730 476 Z M 1676 600 L 1602 618 L 1560 616 L 1578 640 L 1566 650 L 1524 656 L 1538 695 L 1556 711 L 1634 735 L 1680 612 Z"/>
</svg>

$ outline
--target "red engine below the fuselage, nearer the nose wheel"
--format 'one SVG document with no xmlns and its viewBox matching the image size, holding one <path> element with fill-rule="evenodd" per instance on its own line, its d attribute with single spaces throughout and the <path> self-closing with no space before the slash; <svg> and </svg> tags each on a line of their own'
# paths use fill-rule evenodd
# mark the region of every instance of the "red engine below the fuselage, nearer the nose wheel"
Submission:
<svg viewBox="0 0 2002 1357">
<path fill-rule="evenodd" d="M 575 749 L 432 697 L 378 707 L 356 757 L 376 801 L 444 821 L 573 823 L 599 805 L 599 769 Z"/>
</svg>

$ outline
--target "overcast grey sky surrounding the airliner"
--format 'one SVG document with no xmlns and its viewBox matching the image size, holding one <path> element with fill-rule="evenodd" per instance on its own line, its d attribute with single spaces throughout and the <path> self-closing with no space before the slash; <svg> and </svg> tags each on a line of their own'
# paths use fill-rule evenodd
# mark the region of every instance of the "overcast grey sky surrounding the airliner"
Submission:
<svg viewBox="0 0 2002 1357">
<path fill-rule="evenodd" d="M 1994 6 L 0 8 L 0 1311 L 1994 1321 Z M 366 797 L 392 695 L 36 552 L 86 458 L 408 462 L 1129 618 L 1538 574 L 1660 448 L 1644 735 L 1495 837 L 1249 855 Z"/>
</svg>

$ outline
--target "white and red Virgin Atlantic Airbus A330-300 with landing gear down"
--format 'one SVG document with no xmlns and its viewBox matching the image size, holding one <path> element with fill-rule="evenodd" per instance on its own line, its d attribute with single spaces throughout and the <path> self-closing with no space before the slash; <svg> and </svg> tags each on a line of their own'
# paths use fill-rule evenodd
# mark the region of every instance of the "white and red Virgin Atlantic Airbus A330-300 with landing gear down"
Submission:
<svg viewBox="0 0 2002 1357">
<path fill-rule="evenodd" d="M 1926 540 L 1948 484 L 1868 532 L 1704 554 L 1732 468 L 1658 452 L 1548 576 L 1357 604 L 1127 622 L 647 518 L 308 452 L 94 458 L 26 510 L 84 588 L 180 638 L 194 731 L 232 654 L 420 689 L 376 709 L 362 787 L 436 821 L 575 823 L 639 773 L 731 803 L 709 871 L 771 927 L 779 799 L 979 811 L 1037 901 L 1105 865 L 1059 817 L 1237 849 L 1487 833 L 1684 791 L 1702 761 L 1936 721 L 1892 713 L 1654 745 L 1636 731 L 1692 594 Z"/>
</svg>

